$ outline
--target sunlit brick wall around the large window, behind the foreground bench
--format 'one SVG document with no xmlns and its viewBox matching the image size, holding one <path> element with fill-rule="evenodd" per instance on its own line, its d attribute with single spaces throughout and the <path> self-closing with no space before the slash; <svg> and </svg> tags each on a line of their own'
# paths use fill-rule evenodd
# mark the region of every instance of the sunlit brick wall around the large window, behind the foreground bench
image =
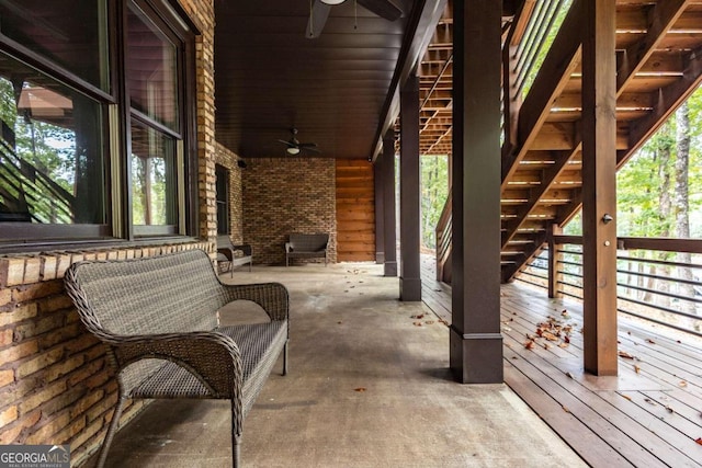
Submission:
<svg viewBox="0 0 702 468">
<path fill-rule="evenodd" d="M 202 241 L 0 256 L 0 445 L 70 444 L 81 466 L 101 443 L 116 402 L 104 350 L 64 290 L 68 266 L 84 259 L 152 256 L 202 248 L 217 232 L 213 0 L 180 0 L 202 35 L 196 43 L 199 235 Z M 123 422 L 143 408 L 131 404 Z"/>
</svg>

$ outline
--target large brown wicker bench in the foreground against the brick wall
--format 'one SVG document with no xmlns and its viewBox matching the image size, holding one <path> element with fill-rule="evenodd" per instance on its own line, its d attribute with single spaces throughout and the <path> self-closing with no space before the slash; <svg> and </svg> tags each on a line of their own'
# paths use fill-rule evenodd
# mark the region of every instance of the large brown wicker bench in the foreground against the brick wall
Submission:
<svg viewBox="0 0 702 468">
<path fill-rule="evenodd" d="M 287 289 L 278 283 L 225 285 L 202 250 L 80 262 L 65 283 L 81 321 L 106 345 L 120 387 L 98 466 L 126 399 L 214 398 L 231 402 L 237 467 L 244 419 L 281 353 L 287 372 Z M 219 327 L 217 311 L 238 299 L 260 305 L 270 321 Z"/>
</svg>

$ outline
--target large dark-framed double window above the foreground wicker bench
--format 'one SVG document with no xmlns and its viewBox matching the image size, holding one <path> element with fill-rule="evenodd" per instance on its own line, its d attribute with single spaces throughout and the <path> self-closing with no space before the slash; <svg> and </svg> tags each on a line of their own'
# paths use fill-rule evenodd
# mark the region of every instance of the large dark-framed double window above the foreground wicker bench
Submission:
<svg viewBox="0 0 702 468">
<path fill-rule="evenodd" d="M 0 249 L 195 231 L 195 36 L 170 1 L 0 1 Z"/>
</svg>

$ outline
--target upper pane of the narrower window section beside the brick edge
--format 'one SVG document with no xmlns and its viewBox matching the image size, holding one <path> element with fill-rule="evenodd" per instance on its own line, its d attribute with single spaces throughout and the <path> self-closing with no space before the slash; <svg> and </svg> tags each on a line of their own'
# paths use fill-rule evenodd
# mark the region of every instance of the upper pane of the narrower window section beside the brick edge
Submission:
<svg viewBox="0 0 702 468">
<path fill-rule="evenodd" d="M 127 81 L 132 106 L 178 132 L 176 46 L 140 11 L 127 14 Z"/>
</svg>

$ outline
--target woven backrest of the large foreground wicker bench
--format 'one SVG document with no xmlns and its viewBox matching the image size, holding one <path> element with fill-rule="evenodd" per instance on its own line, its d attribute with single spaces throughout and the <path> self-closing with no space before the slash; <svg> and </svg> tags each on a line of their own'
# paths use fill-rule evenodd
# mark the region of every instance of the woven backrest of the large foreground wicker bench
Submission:
<svg viewBox="0 0 702 468">
<path fill-rule="evenodd" d="M 210 331 L 225 304 L 203 250 L 80 262 L 68 269 L 65 282 L 86 327 L 102 335 Z"/>
</svg>

